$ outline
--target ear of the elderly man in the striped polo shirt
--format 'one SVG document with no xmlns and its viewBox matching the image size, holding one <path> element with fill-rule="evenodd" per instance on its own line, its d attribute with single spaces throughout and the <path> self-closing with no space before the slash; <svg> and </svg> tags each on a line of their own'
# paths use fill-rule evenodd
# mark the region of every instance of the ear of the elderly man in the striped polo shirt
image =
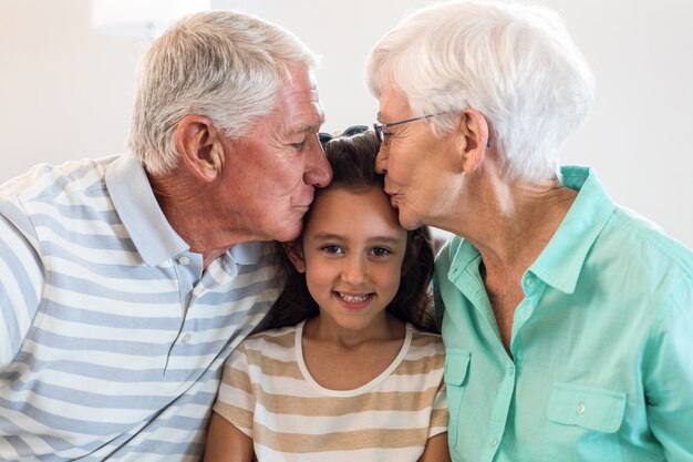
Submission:
<svg viewBox="0 0 693 462">
<path fill-rule="evenodd" d="M 188 114 L 176 129 L 176 148 L 184 165 L 199 179 L 213 182 L 224 167 L 224 134 L 198 114 Z"/>
</svg>

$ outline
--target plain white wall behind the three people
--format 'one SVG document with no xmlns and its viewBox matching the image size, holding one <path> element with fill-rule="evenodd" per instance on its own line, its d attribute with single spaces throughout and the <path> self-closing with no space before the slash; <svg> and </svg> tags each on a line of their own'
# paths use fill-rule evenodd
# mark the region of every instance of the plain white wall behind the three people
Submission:
<svg viewBox="0 0 693 462">
<path fill-rule="evenodd" d="M 323 58 L 327 131 L 370 124 L 364 59 L 421 0 L 217 0 L 278 22 Z M 613 198 L 693 246 L 693 1 L 546 0 L 597 78 L 596 110 L 565 163 L 592 165 Z M 95 34 L 89 0 L 0 0 L 0 182 L 38 162 L 123 151 L 145 40 Z M 422 158 L 425 162 L 425 157 Z"/>
</svg>

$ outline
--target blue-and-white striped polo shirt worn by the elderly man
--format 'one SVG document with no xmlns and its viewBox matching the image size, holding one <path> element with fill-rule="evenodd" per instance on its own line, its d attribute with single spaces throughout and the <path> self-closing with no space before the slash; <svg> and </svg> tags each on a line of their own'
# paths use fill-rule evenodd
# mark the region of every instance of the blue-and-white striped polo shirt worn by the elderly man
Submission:
<svg viewBox="0 0 693 462">
<path fill-rule="evenodd" d="M 199 460 L 224 361 L 280 286 L 263 243 L 203 271 L 131 155 L 1 185 L 0 460 Z"/>
</svg>

